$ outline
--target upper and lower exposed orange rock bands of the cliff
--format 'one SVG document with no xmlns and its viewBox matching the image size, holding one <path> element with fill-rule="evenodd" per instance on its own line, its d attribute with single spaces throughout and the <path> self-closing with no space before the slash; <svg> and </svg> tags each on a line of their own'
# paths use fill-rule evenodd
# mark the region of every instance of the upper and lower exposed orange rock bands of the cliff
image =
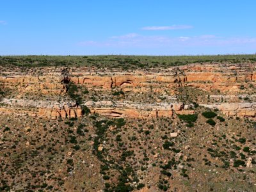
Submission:
<svg viewBox="0 0 256 192">
<path fill-rule="evenodd" d="M 45 118 L 74 118 L 81 117 L 83 111 L 80 106 L 70 102 L 56 102 L 57 98 L 67 97 L 67 83 L 70 81 L 77 86 L 85 86 L 88 90 L 102 90 L 110 92 L 113 89 L 131 93 L 155 92 L 159 95 L 175 95 L 179 87 L 191 87 L 205 92 L 214 92 L 223 95 L 239 95 L 245 90 L 256 87 L 255 64 L 193 64 L 182 67 L 173 67 L 166 70 L 134 70 L 130 72 L 118 72 L 115 70 L 92 70 L 81 68 L 36 68 L 30 71 L 3 70 L 0 75 L 0 86 L 8 88 L 15 95 L 15 99 L 26 100 L 27 95 L 44 95 L 55 104 L 31 104 L 32 111 L 26 106 L 26 101 L 20 100 L 13 104 L 5 100 L 0 113 L 17 113 Z M 18 72 L 17 72 L 18 71 Z M 11 99 L 12 100 L 12 99 Z M 47 99 L 46 99 L 47 100 Z M 29 103 L 31 103 L 29 101 Z M 204 103 L 201 103 L 204 105 Z M 255 117 L 255 104 L 223 103 L 211 104 L 212 108 L 218 108 L 225 115 Z M 176 114 L 191 114 L 193 110 L 184 104 L 133 104 L 122 103 L 120 105 L 90 104 L 86 106 L 92 113 L 111 117 L 127 118 L 157 118 L 169 117 Z M 19 108 L 19 109 L 18 109 Z M 34 109 L 35 108 L 35 109 Z"/>
</svg>

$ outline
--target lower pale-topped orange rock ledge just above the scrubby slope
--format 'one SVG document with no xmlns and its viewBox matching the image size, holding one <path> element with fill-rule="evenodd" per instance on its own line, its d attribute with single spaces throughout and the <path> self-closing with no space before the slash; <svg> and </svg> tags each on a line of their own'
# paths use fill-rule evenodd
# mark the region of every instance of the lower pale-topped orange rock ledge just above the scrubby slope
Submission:
<svg viewBox="0 0 256 192">
<path fill-rule="evenodd" d="M 29 115 L 42 118 L 75 118 L 83 115 L 76 102 L 47 102 L 22 99 L 4 99 L 0 102 L 0 113 Z M 114 118 L 157 118 L 193 114 L 193 104 L 157 103 L 139 104 L 134 102 L 88 101 L 84 103 L 91 113 Z M 205 108 L 219 109 L 227 116 L 255 117 L 256 103 L 200 104 Z"/>
</svg>

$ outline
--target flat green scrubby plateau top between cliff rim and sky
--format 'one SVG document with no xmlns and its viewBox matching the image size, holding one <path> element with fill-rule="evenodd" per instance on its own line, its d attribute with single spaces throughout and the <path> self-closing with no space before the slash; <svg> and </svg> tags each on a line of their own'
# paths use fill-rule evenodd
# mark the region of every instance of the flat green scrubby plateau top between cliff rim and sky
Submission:
<svg viewBox="0 0 256 192">
<path fill-rule="evenodd" d="M 214 56 L 0 56 L 0 65 L 19 67 L 99 67 L 99 68 L 148 68 L 170 67 L 201 62 L 241 63 L 256 61 L 255 54 Z"/>
</svg>

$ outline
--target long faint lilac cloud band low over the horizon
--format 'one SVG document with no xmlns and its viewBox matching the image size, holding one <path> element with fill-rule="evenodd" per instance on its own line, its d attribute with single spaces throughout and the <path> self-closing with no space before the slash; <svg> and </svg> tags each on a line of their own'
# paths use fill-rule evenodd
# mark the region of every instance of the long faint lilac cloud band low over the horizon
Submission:
<svg viewBox="0 0 256 192">
<path fill-rule="evenodd" d="M 111 36 L 103 41 L 84 41 L 77 45 L 84 47 L 106 47 L 115 49 L 140 48 L 140 49 L 184 49 L 202 47 L 254 47 L 256 49 L 256 38 L 252 37 L 221 37 L 214 35 L 201 36 L 157 36 L 157 35 L 139 35 L 129 33 L 127 35 Z M 229 49 L 226 48 L 226 49 Z"/>
</svg>

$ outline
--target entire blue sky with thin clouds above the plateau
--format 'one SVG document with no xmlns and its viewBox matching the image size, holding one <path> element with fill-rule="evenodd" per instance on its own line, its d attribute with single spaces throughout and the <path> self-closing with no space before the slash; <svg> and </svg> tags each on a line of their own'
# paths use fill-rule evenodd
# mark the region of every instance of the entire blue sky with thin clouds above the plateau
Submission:
<svg viewBox="0 0 256 192">
<path fill-rule="evenodd" d="M 1 0 L 0 55 L 255 54 L 256 1 Z"/>
</svg>

